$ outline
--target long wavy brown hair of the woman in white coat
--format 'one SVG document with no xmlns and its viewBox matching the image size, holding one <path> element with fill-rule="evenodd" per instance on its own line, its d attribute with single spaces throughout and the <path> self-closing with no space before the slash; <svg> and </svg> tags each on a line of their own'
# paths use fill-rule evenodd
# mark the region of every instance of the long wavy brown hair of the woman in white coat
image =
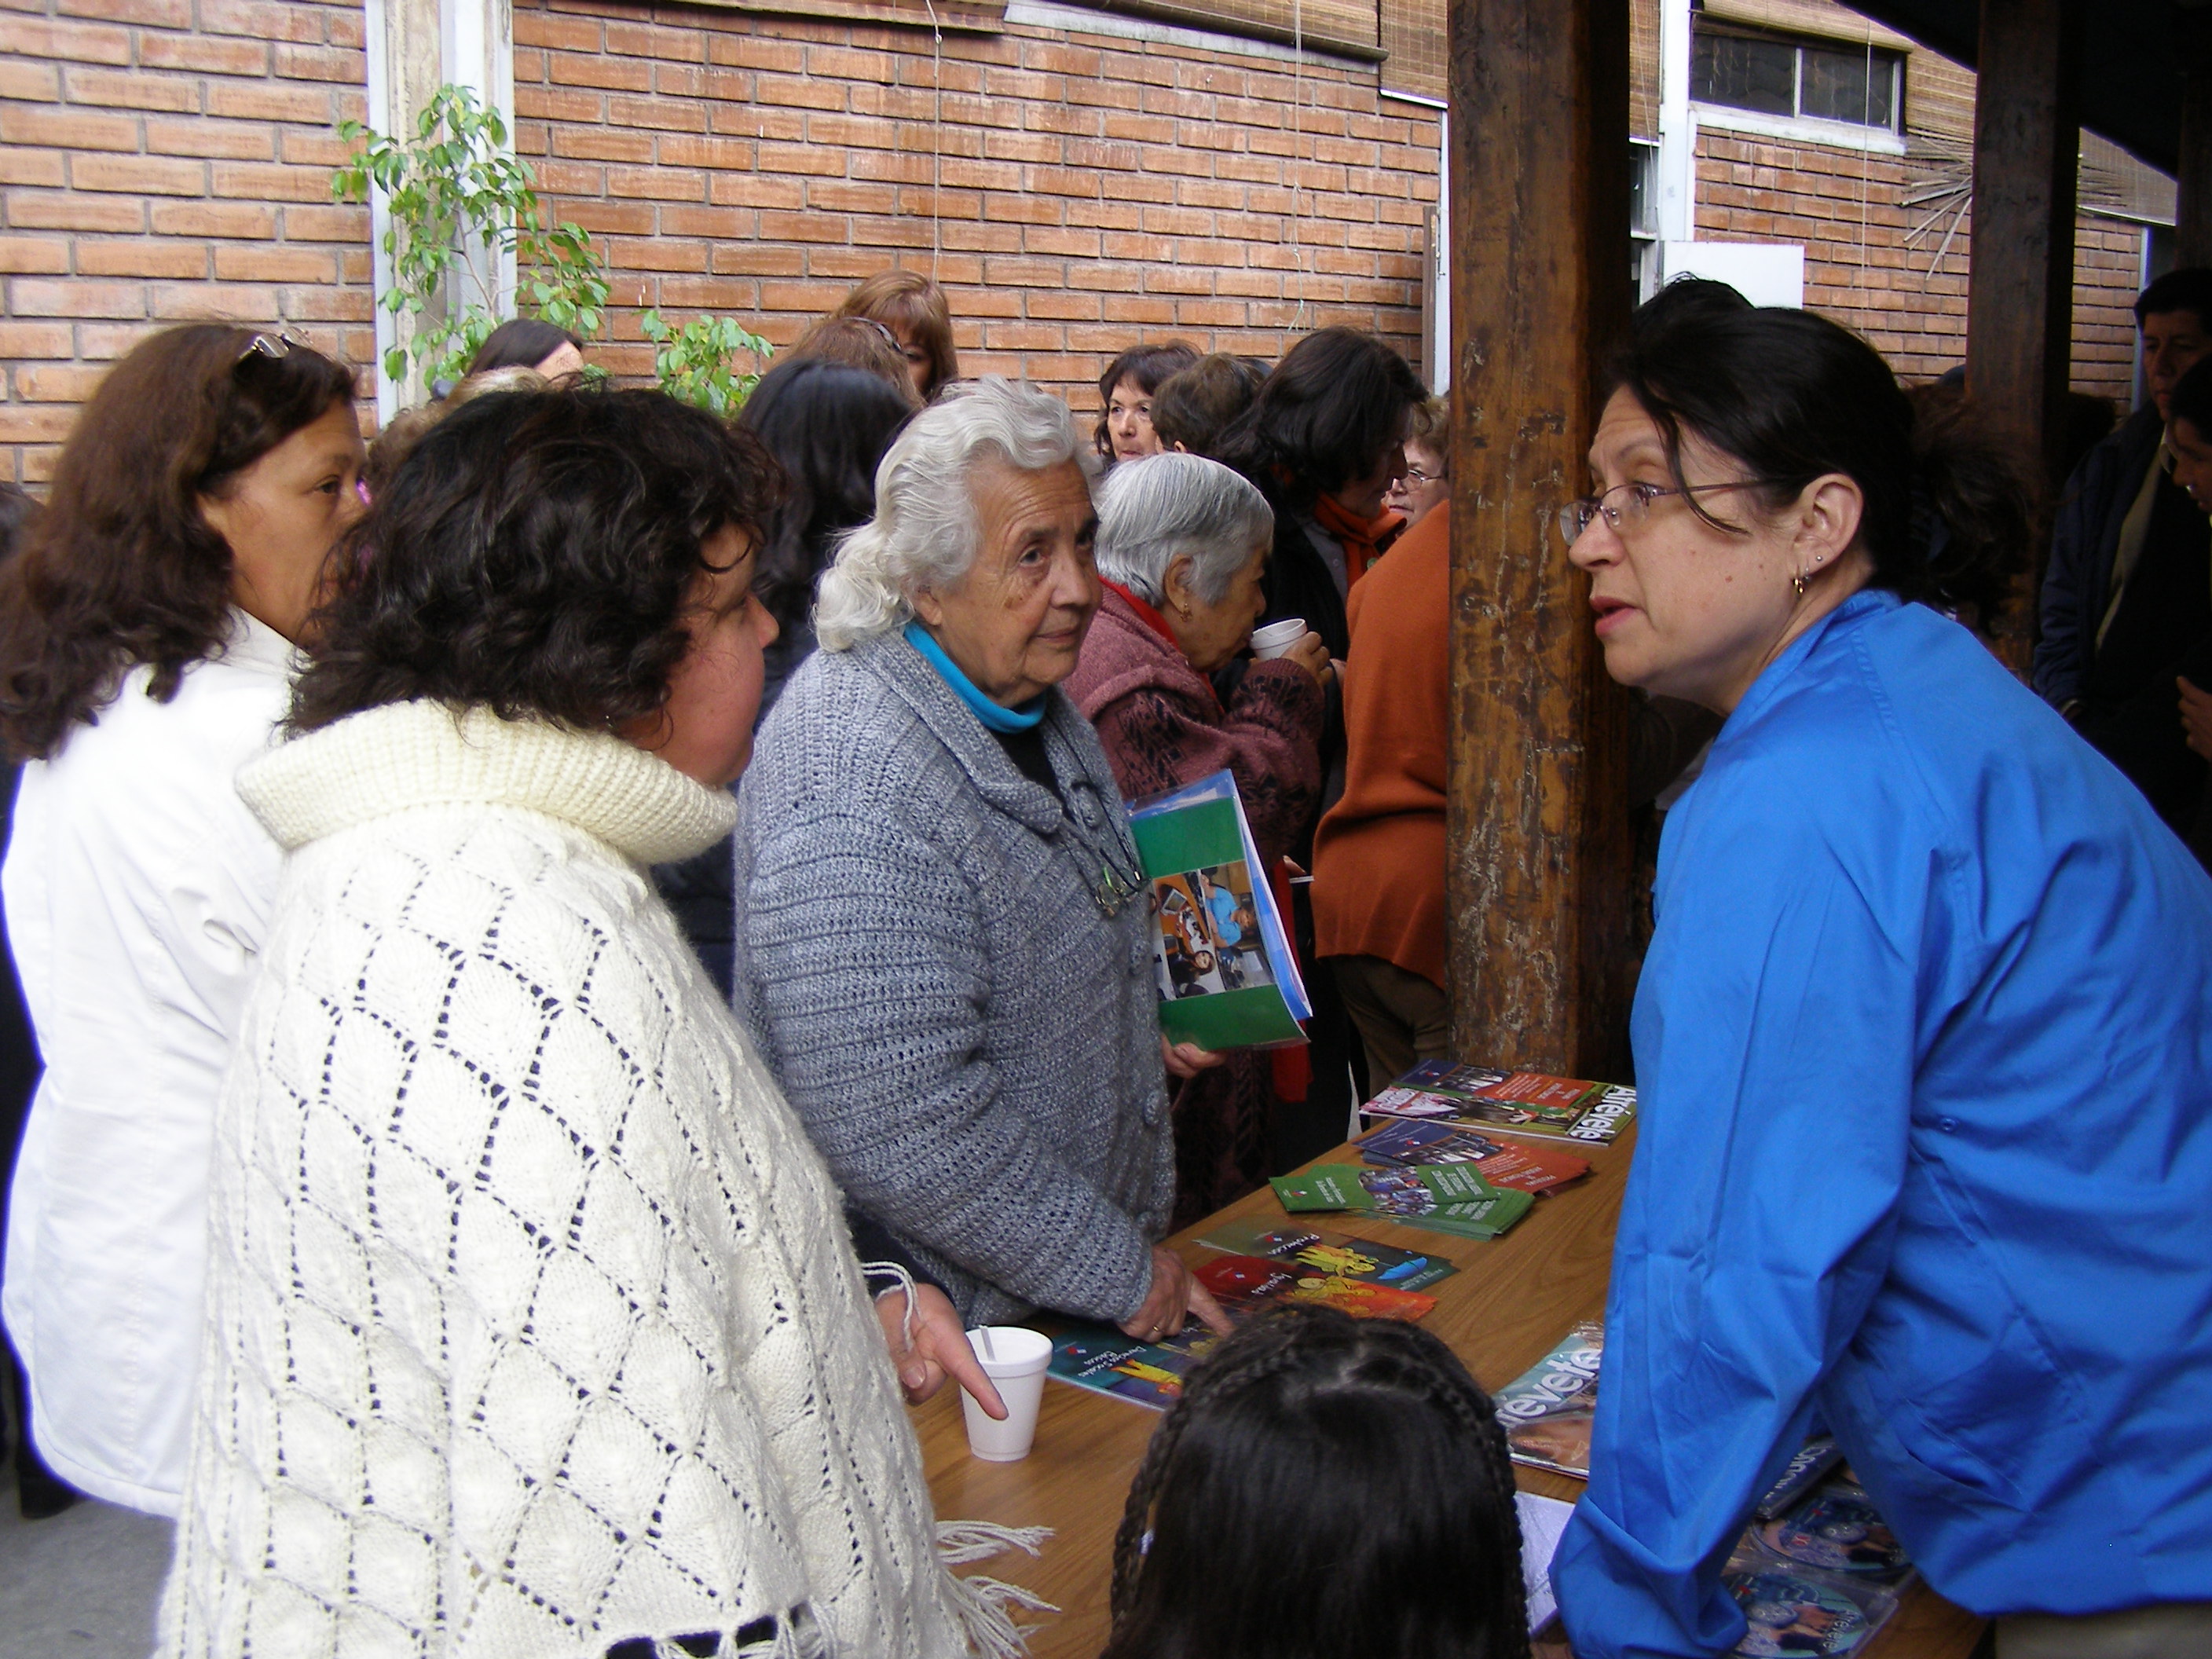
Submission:
<svg viewBox="0 0 2212 1659">
<path fill-rule="evenodd" d="M 131 668 L 148 664 L 148 695 L 166 703 L 215 655 L 230 628 L 230 544 L 199 500 L 352 396 L 343 363 L 232 323 L 164 330 L 108 369 L 62 445 L 46 511 L 0 571 L 11 759 L 60 752 Z"/>
</svg>

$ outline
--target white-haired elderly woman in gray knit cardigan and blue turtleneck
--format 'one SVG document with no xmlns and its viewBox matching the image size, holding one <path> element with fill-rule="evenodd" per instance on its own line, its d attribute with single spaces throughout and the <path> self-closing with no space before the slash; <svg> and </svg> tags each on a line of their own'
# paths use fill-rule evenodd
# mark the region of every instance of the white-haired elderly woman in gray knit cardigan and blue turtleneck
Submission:
<svg viewBox="0 0 2212 1659">
<path fill-rule="evenodd" d="M 1057 688 L 1099 604 L 1066 405 L 918 414 L 823 573 L 739 796 L 737 1004 L 845 1194 L 969 1325 L 1221 1312 L 1157 1239 L 1175 1166 L 1119 785 Z"/>
</svg>

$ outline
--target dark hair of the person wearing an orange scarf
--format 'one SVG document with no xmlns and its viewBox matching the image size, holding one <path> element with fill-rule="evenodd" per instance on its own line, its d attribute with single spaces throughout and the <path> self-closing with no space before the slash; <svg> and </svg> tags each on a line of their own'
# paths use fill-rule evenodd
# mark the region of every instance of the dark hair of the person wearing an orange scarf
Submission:
<svg viewBox="0 0 2212 1659">
<path fill-rule="evenodd" d="M 1383 336 L 1316 330 L 1261 380 L 1252 407 L 1221 434 L 1217 458 L 1270 504 L 1303 511 L 1367 478 L 1427 400 L 1429 387 Z"/>
</svg>

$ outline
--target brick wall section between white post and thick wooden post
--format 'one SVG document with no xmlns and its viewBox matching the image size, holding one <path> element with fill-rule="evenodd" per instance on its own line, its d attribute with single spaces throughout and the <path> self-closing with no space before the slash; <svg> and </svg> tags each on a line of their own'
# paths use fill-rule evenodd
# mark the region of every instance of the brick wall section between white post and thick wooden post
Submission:
<svg viewBox="0 0 2212 1659">
<path fill-rule="evenodd" d="M 940 77 L 914 29 L 518 0 L 515 119 L 608 239 L 619 372 L 646 305 L 783 345 L 887 265 L 936 270 L 964 374 L 1084 411 L 1139 338 L 1272 356 L 1352 323 L 1420 361 L 1438 119 L 1371 66 L 1006 29 L 947 33 Z"/>
</svg>

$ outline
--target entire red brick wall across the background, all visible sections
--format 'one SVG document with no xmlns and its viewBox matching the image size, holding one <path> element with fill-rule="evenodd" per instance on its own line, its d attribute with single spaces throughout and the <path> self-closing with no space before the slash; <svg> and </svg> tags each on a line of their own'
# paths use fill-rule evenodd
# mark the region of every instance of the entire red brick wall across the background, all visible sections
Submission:
<svg viewBox="0 0 2212 1659">
<path fill-rule="evenodd" d="M 615 263 L 617 372 L 648 367 L 644 305 L 787 343 L 889 263 L 936 265 L 967 372 L 1084 411 L 1137 338 L 1276 354 L 1343 321 L 1420 354 L 1438 119 L 1371 69 L 1009 29 L 949 33 L 940 88 L 922 31 L 641 0 L 518 0 L 515 42 L 518 146 Z M 168 321 L 372 361 L 367 212 L 327 195 L 363 80 L 358 2 L 0 0 L 0 478 L 44 478 L 104 365 Z M 1902 248 L 1905 177 L 1708 131 L 1699 234 L 1803 241 L 1809 303 L 1938 374 L 1966 237 L 1936 272 L 1933 239 Z M 2079 232 L 2075 378 L 2121 398 L 2137 234 Z"/>
</svg>

